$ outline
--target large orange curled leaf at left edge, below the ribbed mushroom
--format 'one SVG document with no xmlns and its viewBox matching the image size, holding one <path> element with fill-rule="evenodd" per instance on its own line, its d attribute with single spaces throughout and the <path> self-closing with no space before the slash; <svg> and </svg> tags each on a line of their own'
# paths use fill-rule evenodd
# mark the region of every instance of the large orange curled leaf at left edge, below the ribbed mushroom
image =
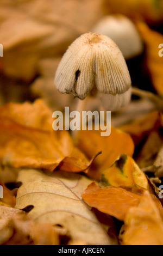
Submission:
<svg viewBox="0 0 163 256">
<path fill-rule="evenodd" d="M 1 107 L 0 158 L 3 166 L 52 171 L 65 160 L 64 170 L 80 172 L 87 168 L 89 162 L 74 147 L 68 131 L 53 131 L 52 123 L 52 112 L 41 100 L 33 104 L 8 103 Z M 70 157 L 71 168 L 67 157 Z"/>
</svg>

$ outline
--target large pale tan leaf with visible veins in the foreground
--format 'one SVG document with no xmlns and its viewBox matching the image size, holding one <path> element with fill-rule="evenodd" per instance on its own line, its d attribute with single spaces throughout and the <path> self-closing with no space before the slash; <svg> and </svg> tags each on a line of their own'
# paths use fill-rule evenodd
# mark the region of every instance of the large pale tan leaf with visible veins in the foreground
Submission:
<svg viewBox="0 0 163 256">
<path fill-rule="evenodd" d="M 79 174 L 56 171 L 44 174 L 39 170 L 22 170 L 18 181 L 16 208 L 34 208 L 29 215 L 37 223 L 48 222 L 67 229 L 72 240 L 89 245 L 109 245 L 109 236 L 81 196 L 90 180 Z M 98 236 L 97 236 L 98 234 Z"/>
</svg>

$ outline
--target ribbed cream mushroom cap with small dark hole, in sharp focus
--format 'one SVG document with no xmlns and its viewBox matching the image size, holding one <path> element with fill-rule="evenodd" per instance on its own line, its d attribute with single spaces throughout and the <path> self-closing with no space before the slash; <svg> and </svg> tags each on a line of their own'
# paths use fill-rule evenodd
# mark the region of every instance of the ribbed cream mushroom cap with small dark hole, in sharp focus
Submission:
<svg viewBox="0 0 163 256">
<path fill-rule="evenodd" d="M 131 96 L 131 80 L 126 61 L 108 36 L 85 33 L 68 47 L 54 79 L 61 93 L 80 100 L 96 95 L 107 111 L 126 106 Z"/>
</svg>

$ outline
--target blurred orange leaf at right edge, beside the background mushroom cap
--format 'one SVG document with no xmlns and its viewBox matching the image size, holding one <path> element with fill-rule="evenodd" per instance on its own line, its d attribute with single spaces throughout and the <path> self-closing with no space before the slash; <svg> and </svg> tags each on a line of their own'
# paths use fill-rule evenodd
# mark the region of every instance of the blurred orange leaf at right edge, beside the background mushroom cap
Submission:
<svg viewBox="0 0 163 256">
<path fill-rule="evenodd" d="M 150 29 L 146 23 L 137 22 L 137 28 L 146 45 L 146 64 L 156 92 L 163 96 L 163 61 L 159 56 L 159 45 L 163 41 L 163 35 Z"/>
</svg>

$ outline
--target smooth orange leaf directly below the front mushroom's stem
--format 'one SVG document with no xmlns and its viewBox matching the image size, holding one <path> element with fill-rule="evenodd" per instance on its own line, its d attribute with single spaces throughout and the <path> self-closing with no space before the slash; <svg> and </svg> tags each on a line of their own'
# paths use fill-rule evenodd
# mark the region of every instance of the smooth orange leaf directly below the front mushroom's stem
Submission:
<svg viewBox="0 0 163 256">
<path fill-rule="evenodd" d="M 103 170 L 110 167 L 121 154 L 132 156 L 134 153 L 131 137 L 114 127 L 111 127 L 111 134 L 107 137 L 102 137 L 101 131 L 79 131 L 77 145 L 89 159 L 102 151 L 88 172 L 93 179 L 100 179 Z"/>
</svg>

